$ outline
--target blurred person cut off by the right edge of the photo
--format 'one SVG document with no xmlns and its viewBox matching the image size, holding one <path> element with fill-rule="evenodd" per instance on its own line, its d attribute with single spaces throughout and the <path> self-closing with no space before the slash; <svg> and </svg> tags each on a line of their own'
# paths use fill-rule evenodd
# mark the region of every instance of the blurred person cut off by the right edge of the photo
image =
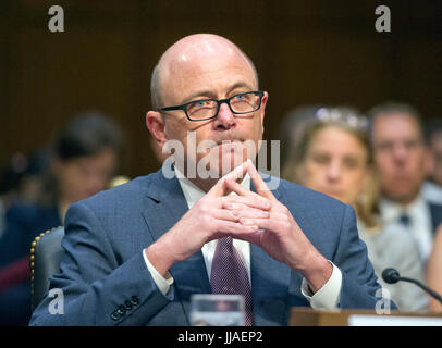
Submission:
<svg viewBox="0 0 442 348">
<path fill-rule="evenodd" d="M 433 119 L 427 124 L 429 150 L 432 166 L 422 186 L 422 196 L 432 203 L 442 204 L 442 120 Z"/>
</svg>

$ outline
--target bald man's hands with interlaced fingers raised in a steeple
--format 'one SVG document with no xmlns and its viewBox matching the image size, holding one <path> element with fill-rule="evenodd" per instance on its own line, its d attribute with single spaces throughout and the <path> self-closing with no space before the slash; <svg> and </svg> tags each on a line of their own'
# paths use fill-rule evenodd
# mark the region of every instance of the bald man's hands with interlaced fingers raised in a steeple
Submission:
<svg viewBox="0 0 442 348">
<path fill-rule="evenodd" d="M 237 183 L 246 172 L 256 192 Z M 322 287 L 331 275 L 332 265 L 308 240 L 290 210 L 275 199 L 250 161 L 223 176 L 146 249 L 146 254 L 164 275 L 175 262 L 186 260 L 206 243 L 224 236 L 257 245 L 273 259 L 299 271 L 312 291 Z"/>
</svg>

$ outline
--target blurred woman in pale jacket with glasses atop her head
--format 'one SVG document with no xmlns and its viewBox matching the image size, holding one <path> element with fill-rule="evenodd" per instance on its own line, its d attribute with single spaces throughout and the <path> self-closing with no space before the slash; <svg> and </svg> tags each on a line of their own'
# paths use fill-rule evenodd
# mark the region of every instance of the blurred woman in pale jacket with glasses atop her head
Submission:
<svg viewBox="0 0 442 348">
<path fill-rule="evenodd" d="M 368 120 L 348 108 L 321 108 L 315 121 L 305 126 L 292 156 L 283 170 L 292 173 L 286 179 L 353 206 L 378 282 L 390 291 L 398 309 L 427 310 L 427 295 L 418 287 L 406 283 L 390 285 L 381 278 L 388 266 L 418 279 L 423 279 L 423 272 L 414 239 L 401 225 L 381 222 Z"/>
</svg>

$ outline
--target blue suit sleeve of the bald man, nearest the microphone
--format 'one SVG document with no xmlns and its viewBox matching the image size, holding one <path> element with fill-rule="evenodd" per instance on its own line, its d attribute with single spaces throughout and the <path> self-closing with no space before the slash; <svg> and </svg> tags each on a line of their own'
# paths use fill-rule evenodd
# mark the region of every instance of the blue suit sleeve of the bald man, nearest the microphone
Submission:
<svg viewBox="0 0 442 348">
<path fill-rule="evenodd" d="M 359 238 L 356 216 L 346 206 L 340 243 L 333 258 L 342 272 L 340 308 L 342 309 L 396 309 L 389 298 L 382 298 L 381 286 L 367 254 L 367 247 Z"/>
</svg>

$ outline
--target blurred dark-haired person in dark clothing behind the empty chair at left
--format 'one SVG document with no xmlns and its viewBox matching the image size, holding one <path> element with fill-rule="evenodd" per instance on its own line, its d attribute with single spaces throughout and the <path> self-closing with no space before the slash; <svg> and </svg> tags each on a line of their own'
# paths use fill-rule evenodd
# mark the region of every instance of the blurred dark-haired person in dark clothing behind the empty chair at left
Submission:
<svg viewBox="0 0 442 348">
<path fill-rule="evenodd" d="M 71 120 L 51 146 L 51 161 L 35 203 L 12 206 L 0 240 L 0 325 L 27 325 L 30 318 L 29 249 L 40 233 L 63 225 L 67 208 L 108 188 L 122 150 L 121 129 L 98 113 Z M 2 279 L 3 275 L 3 279 Z"/>
</svg>

